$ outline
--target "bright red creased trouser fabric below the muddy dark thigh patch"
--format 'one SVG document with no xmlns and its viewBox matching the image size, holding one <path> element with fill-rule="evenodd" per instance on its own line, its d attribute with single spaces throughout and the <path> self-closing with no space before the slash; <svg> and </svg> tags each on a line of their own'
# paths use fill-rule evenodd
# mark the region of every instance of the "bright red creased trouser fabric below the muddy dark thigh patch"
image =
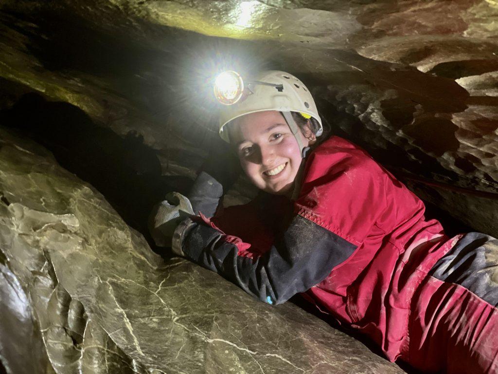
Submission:
<svg viewBox="0 0 498 374">
<path fill-rule="evenodd" d="M 425 373 L 498 373 L 498 310 L 467 288 L 419 273 L 405 359 Z"/>
</svg>

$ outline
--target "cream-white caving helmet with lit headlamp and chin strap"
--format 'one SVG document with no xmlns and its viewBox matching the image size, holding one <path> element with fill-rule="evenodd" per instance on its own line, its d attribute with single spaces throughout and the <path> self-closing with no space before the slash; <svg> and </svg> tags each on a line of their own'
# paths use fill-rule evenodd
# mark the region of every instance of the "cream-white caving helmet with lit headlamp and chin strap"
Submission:
<svg viewBox="0 0 498 374">
<path fill-rule="evenodd" d="M 303 82 L 284 71 L 261 71 L 247 81 L 235 71 L 226 71 L 216 79 L 215 96 L 224 104 L 220 110 L 220 137 L 226 142 L 230 140 L 225 126 L 230 121 L 267 110 L 283 114 L 303 157 L 308 148 L 302 144 L 298 136 L 299 127 L 290 112 L 298 112 L 304 118 L 313 117 L 320 125 L 315 135 L 322 135 L 322 120 L 311 93 Z"/>
</svg>

